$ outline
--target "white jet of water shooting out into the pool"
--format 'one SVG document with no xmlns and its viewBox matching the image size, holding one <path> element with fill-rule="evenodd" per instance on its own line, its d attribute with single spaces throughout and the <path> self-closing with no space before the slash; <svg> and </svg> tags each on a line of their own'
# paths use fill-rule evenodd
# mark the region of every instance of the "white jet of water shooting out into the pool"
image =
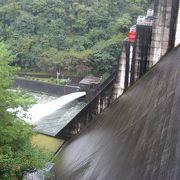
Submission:
<svg viewBox="0 0 180 180">
<path fill-rule="evenodd" d="M 28 114 L 31 119 L 30 122 L 34 124 L 43 117 L 50 115 L 55 111 L 57 111 L 58 109 L 62 108 L 64 105 L 68 104 L 69 102 L 74 101 L 85 95 L 86 92 L 76 92 L 62 96 L 45 104 L 36 104 L 28 110 Z"/>
</svg>

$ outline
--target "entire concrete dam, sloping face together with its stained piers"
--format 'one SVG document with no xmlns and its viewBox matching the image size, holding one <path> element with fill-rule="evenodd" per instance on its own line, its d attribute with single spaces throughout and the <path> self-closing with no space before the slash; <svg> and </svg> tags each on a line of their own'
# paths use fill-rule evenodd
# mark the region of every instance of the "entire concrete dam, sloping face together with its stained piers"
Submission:
<svg viewBox="0 0 180 180">
<path fill-rule="evenodd" d="M 133 44 L 133 63 L 124 42 L 116 78 L 91 102 L 93 121 L 86 109 L 59 134 L 71 140 L 58 154 L 54 179 L 180 179 L 178 8 L 179 0 L 155 1 L 154 25 Z M 77 123 L 84 128 L 73 134 Z"/>
</svg>

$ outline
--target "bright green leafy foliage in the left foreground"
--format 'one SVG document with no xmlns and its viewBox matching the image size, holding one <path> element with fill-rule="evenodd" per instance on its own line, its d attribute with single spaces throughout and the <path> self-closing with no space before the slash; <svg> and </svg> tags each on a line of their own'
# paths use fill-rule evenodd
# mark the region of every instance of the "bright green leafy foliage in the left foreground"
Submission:
<svg viewBox="0 0 180 180">
<path fill-rule="evenodd" d="M 8 64 L 13 60 L 6 46 L 0 43 L 0 179 L 21 179 L 22 172 L 41 168 L 47 162 L 45 152 L 31 145 L 31 126 L 20 120 L 16 112 L 7 111 L 19 106 L 28 107 L 26 94 L 13 93 L 11 86 L 15 69 Z"/>
</svg>

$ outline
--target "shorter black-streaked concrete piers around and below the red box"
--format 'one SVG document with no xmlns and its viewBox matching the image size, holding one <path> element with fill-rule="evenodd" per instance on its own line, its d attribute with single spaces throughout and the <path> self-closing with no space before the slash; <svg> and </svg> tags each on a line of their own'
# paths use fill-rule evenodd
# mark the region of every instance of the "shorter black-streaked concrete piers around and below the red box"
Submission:
<svg viewBox="0 0 180 180">
<path fill-rule="evenodd" d="M 149 61 L 152 27 L 137 25 L 136 32 L 137 38 L 134 43 L 127 39 L 123 42 L 114 84 L 113 100 L 118 98 L 152 66 L 151 61 Z"/>
</svg>

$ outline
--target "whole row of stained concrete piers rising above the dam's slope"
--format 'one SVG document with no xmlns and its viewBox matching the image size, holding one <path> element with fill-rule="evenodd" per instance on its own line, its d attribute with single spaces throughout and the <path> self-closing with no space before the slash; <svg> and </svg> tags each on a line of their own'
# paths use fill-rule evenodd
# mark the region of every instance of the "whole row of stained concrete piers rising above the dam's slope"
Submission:
<svg viewBox="0 0 180 180">
<path fill-rule="evenodd" d="M 153 26 L 136 25 L 135 43 L 124 41 L 113 100 L 180 43 L 179 6 L 179 0 L 156 0 Z"/>
</svg>

